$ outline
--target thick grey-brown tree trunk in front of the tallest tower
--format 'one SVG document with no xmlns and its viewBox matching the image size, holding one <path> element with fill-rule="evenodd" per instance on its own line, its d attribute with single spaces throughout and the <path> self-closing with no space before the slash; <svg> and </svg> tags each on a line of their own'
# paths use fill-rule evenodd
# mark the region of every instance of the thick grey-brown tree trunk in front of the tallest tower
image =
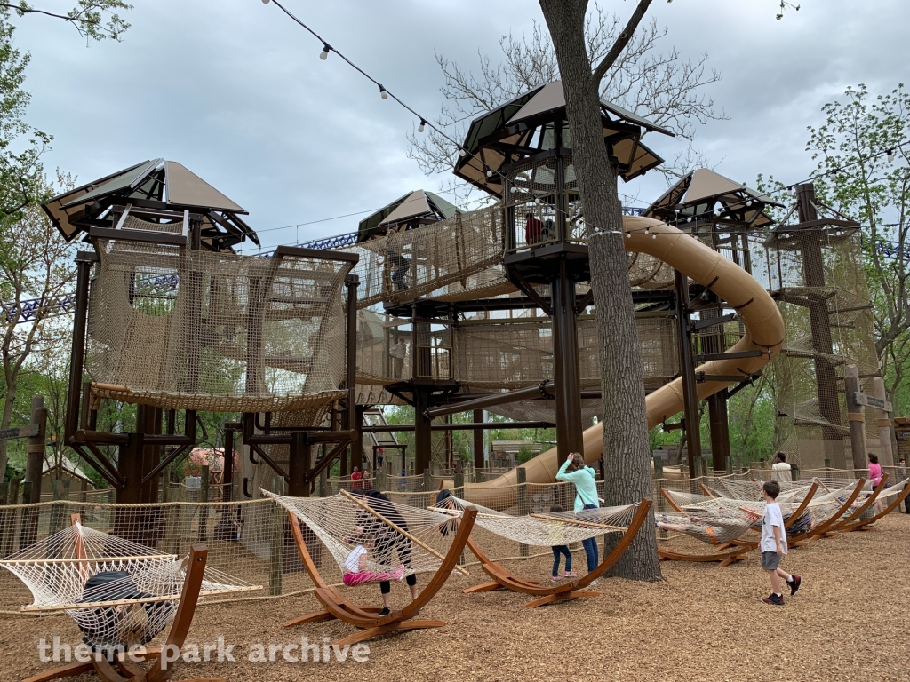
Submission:
<svg viewBox="0 0 910 682">
<path fill-rule="evenodd" d="M 588 226 L 591 288 L 601 360 L 604 476 L 607 505 L 652 496 L 642 353 L 622 245 L 622 206 L 615 167 L 603 143 L 598 82 L 585 50 L 586 0 L 541 0 L 560 66 L 572 161 Z M 592 234 L 592 229 L 602 235 Z M 615 234 L 611 234 L 615 233 Z M 652 518 L 620 559 L 613 575 L 660 580 Z"/>
</svg>

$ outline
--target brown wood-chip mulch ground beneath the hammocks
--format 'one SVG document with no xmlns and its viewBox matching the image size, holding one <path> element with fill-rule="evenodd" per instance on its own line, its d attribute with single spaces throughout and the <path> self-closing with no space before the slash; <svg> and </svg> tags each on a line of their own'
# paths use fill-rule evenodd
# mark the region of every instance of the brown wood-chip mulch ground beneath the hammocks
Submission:
<svg viewBox="0 0 910 682">
<path fill-rule="evenodd" d="M 784 607 L 760 598 L 769 582 L 753 552 L 744 562 L 662 564 L 660 583 L 602 580 L 602 597 L 528 609 L 530 597 L 498 591 L 462 595 L 483 580 L 454 574 L 421 617 L 446 627 L 369 641 L 369 661 L 288 663 L 248 661 L 250 645 L 291 644 L 307 636 L 347 637 L 343 623 L 293 629 L 282 623 L 319 604 L 311 595 L 200 607 L 187 641 L 235 644 L 236 663 L 175 665 L 175 679 L 227 677 L 284 682 L 405 680 L 908 680 L 910 654 L 905 618 L 910 584 L 910 517 L 892 514 L 876 531 L 850 533 L 795 548 L 782 567 L 804 577 Z M 584 567 L 583 552 L 575 552 Z M 551 559 L 508 562 L 523 577 L 549 576 Z M 425 584 L 425 580 L 421 580 Z M 358 601 L 379 604 L 379 587 L 348 590 Z M 404 584 L 392 588 L 393 604 L 406 601 Z M 19 680 L 53 667 L 41 663 L 39 637 L 76 644 L 68 617 L 0 616 L 0 679 Z M 88 682 L 96 677 L 71 678 Z"/>
</svg>

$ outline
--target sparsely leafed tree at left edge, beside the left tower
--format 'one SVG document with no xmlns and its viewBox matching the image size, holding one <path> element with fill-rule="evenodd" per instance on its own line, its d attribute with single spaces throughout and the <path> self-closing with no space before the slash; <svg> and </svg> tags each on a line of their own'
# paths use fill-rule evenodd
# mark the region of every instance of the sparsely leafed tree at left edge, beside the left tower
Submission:
<svg viewBox="0 0 910 682">
<path fill-rule="evenodd" d="M 72 186 L 66 176 L 60 176 L 58 184 L 61 189 Z M 66 324 L 47 304 L 73 286 L 73 249 L 39 206 L 26 206 L 18 220 L 0 221 L 0 429 L 10 425 L 19 376 L 32 354 L 65 347 Z M 6 461 L 6 442 L 0 441 L 0 472 L 6 470 Z"/>
</svg>

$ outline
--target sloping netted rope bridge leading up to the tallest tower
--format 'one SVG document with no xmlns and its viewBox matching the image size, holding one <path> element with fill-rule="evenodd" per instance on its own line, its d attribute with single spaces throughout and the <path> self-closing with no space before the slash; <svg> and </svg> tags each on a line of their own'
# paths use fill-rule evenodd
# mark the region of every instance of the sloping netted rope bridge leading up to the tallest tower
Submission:
<svg viewBox="0 0 910 682">
<path fill-rule="evenodd" d="M 502 208 L 456 213 L 429 226 L 389 230 L 343 249 L 360 256 L 359 307 L 410 301 L 502 261 Z"/>
</svg>

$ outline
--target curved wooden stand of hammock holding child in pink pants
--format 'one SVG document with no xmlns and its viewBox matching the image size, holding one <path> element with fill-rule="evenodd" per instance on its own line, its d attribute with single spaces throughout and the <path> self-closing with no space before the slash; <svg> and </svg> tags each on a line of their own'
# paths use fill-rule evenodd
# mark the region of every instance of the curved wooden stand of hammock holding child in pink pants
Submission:
<svg viewBox="0 0 910 682">
<path fill-rule="evenodd" d="M 440 591 L 450 573 L 458 565 L 461 552 L 470 537 L 470 529 L 474 527 L 474 519 L 477 517 L 477 509 L 470 506 L 464 511 L 461 517 L 458 531 L 452 538 L 449 552 L 443 558 L 439 569 L 430 579 L 427 587 L 424 587 L 420 594 L 407 607 L 401 610 L 392 611 L 388 616 L 379 616 L 381 607 L 359 607 L 351 604 L 339 591 L 337 587 L 331 587 L 319 575 L 319 569 L 313 563 L 309 556 L 307 544 L 304 542 L 303 533 L 300 530 L 300 522 L 293 512 L 288 510 L 288 519 L 290 519 L 290 528 L 294 536 L 294 542 L 297 545 L 300 559 L 306 567 L 313 585 L 316 587 L 314 594 L 319 599 L 319 603 L 325 607 L 321 611 L 307 614 L 288 620 L 285 627 L 294 627 L 302 623 L 317 623 L 322 620 L 334 620 L 338 618 L 345 623 L 354 627 L 361 628 L 361 631 L 349 637 L 339 639 L 335 642 L 339 647 L 357 644 L 371 637 L 385 635 L 388 632 L 397 632 L 403 630 L 416 630 L 424 627 L 442 627 L 446 624 L 444 620 L 413 620 L 421 608 L 436 596 Z"/>
</svg>

